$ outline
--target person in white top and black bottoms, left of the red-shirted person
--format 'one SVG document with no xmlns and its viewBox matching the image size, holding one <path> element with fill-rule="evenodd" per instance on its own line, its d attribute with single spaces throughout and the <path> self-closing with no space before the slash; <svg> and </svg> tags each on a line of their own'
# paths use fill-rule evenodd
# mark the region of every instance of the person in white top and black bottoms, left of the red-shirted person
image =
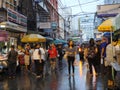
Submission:
<svg viewBox="0 0 120 90">
<path fill-rule="evenodd" d="M 40 63 L 41 61 L 41 51 L 40 51 L 40 45 L 36 44 L 35 49 L 33 51 L 33 56 L 32 56 L 34 63 L 35 63 L 35 73 L 37 75 L 37 78 L 40 78 L 41 72 L 40 72 Z"/>
</svg>

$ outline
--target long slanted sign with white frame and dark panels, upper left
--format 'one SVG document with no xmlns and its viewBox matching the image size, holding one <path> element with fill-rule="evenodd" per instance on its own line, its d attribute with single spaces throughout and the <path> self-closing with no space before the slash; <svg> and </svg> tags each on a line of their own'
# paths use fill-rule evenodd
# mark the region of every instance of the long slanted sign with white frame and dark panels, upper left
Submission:
<svg viewBox="0 0 120 90">
<path fill-rule="evenodd" d="M 7 20 L 27 27 L 27 17 L 14 10 L 7 9 Z"/>
</svg>

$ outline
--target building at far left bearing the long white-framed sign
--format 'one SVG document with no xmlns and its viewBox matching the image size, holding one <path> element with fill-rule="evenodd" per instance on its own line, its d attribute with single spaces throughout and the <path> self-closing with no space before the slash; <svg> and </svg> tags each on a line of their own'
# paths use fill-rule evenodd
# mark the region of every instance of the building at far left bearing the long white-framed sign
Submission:
<svg viewBox="0 0 120 90">
<path fill-rule="evenodd" d="M 0 29 L 9 33 L 7 45 L 19 44 L 27 32 L 27 17 L 17 12 L 17 0 L 0 0 Z"/>
</svg>

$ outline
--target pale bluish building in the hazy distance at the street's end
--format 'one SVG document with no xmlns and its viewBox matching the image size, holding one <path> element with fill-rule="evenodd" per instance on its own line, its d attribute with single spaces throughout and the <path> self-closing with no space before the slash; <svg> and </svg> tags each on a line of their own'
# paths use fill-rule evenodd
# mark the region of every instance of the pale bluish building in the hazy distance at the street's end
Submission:
<svg viewBox="0 0 120 90">
<path fill-rule="evenodd" d="M 83 42 L 94 38 L 94 14 L 80 16 L 80 30 L 82 31 Z"/>
</svg>

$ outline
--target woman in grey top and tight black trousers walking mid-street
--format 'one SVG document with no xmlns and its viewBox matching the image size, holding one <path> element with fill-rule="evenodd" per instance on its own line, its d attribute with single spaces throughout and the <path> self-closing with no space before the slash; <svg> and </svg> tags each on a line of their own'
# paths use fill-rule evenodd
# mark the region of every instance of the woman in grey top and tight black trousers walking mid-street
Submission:
<svg viewBox="0 0 120 90">
<path fill-rule="evenodd" d="M 76 47 L 72 40 L 68 42 L 68 47 L 66 48 L 67 60 L 68 60 L 68 73 L 69 76 L 74 76 L 75 68 L 74 68 L 74 61 L 76 56 Z M 72 74 L 71 74 L 71 67 L 72 67 Z"/>
</svg>

